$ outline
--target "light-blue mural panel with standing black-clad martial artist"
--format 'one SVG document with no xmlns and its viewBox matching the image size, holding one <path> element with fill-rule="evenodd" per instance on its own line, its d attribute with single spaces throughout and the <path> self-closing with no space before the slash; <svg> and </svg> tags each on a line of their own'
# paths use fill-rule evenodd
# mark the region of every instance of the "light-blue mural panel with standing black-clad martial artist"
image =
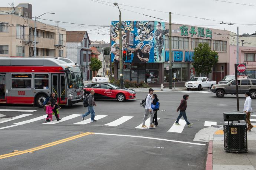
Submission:
<svg viewBox="0 0 256 170">
<path fill-rule="evenodd" d="M 164 62 L 164 36 L 169 33 L 169 29 L 164 22 L 155 21 L 155 47 L 154 62 Z M 163 55 L 163 56 L 162 56 Z"/>
</svg>

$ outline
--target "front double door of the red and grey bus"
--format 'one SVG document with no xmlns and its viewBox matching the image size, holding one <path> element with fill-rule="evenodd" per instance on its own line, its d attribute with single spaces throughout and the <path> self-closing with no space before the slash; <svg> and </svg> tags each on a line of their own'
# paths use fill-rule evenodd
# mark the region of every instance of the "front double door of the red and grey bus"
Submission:
<svg viewBox="0 0 256 170">
<path fill-rule="evenodd" d="M 52 92 L 55 92 L 59 105 L 66 105 L 66 79 L 64 74 L 52 74 Z"/>
</svg>

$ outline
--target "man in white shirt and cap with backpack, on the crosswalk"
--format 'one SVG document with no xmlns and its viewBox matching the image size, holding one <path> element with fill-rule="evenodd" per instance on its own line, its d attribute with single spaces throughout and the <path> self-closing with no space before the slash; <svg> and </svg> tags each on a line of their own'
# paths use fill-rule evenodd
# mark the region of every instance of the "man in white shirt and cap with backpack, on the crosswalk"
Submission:
<svg viewBox="0 0 256 170">
<path fill-rule="evenodd" d="M 145 105 L 145 115 L 142 121 L 142 126 L 141 128 L 143 129 L 148 129 L 148 127 L 145 125 L 145 121 L 148 118 L 148 115 L 150 114 L 150 127 L 149 128 L 155 128 L 155 126 L 153 125 L 152 121 L 154 118 L 154 113 L 153 113 L 153 109 L 151 108 L 151 103 L 152 103 L 152 97 L 151 95 L 154 93 L 153 89 L 148 89 L 149 94 L 147 95 L 146 98 L 146 105 Z"/>
</svg>

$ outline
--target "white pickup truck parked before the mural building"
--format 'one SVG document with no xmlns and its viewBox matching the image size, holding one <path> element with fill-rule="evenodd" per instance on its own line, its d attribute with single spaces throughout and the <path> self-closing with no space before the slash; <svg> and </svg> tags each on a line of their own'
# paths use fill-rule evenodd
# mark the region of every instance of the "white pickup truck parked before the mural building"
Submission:
<svg viewBox="0 0 256 170">
<path fill-rule="evenodd" d="M 200 91 L 203 88 L 211 89 L 213 85 L 216 85 L 216 81 L 209 81 L 207 77 L 194 77 L 191 81 L 185 83 L 185 88 L 187 90 L 198 89 Z"/>
</svg>

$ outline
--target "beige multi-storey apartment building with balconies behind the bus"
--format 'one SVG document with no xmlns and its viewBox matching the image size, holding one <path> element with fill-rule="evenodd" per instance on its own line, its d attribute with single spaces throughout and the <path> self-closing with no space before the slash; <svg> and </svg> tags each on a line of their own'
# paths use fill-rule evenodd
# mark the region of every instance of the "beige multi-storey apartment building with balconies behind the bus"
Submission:
<svg viewBox="0 0 256 170">
<path fill-rule="evenodd" d="M 0 57 L 34 57 L 32 5 L 0 7 L 0 11 Z M 36 21 L 36 57 L 66 57 L 66 30 L 58 23 Z"/>
</svg>

